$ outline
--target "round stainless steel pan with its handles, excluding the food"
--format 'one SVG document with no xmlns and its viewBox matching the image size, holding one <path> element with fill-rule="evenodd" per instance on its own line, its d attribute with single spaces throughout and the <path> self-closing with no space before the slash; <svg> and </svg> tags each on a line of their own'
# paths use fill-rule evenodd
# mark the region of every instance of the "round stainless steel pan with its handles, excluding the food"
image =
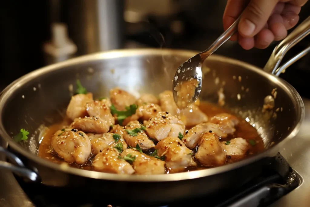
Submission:
<svg viewBox="0 0 310 207">
<path fill-rule="evenodd" d="M 281 60 L 283 56 L 279 54 L 307 35 L 309 28 L 308 18 L 283 41 L 285 44 L 279 44 L 281 48 L 275 49 L 265 71 L 217 55 L 210 56 L 204 63 L 200 98 L 216 103 L 218 91 L 223 88 L 224 107 L 239 113 L 263 137 L 266 150 L 258 155 L 212 169 L 149 176 L 92 172 L 39 158 L 41 124 L 49 125 L 62 118 L 72 95 L 70 85 L 74 86 L 77 78 L 94 93 L 94 97 L 107 96 L 108 90 L 117 86 L 133 93 L 158 94 L 171 90 L 176 68 L 197 53 L 131 49 L 74 58 L 35 70 L 11 83 L 0 97 L 0 136 L 6 142 L 0 152 L 8 158 L 8 161 L 0 161 L 0 168 L 27 178 L 34 186 L 55 189 L 56 197 L 65 194 L 67 200 L 73 199 L 68 196 L 70 194 L 75 198 L 91 196 L 92 199 L 109 199 L 116 203 L 162 204 L 241 186 L 262 171 L 268 157 L 275 156 L 281 144 L 293 138 L 299 130 L 304 117 L 301 97 L 289 83 L 268 72 L 278 72 L 278 61 L 275 64 L 274 60 Z M 300 53 L 286 66 L 306 52 Z M 273 90 L 276 90 L 275 106 L 266 115 L 262 112 L 264 99 L 275 96 Z M 17 143 L 12 139 L 20 128 L 29 130 L 31 138 L 28 142 Z"/>
</svg>

